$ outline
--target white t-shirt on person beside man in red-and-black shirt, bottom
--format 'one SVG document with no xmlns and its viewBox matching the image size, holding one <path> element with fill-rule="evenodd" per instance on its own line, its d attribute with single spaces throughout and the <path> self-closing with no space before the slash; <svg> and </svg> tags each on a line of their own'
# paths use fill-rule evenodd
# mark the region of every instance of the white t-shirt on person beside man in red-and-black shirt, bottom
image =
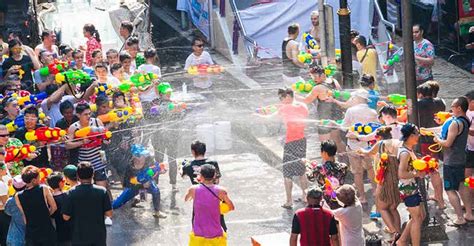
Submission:
<svg viewBox="0 0 474 246">
<path fill-rule="evenodd" d="M 364 246 L 364 230 L 362 228 L 362 205 L 359 201 L 354 206 L 338 208 L 332 211 L 339 221 L 341 245 Z"/>
</svg>

